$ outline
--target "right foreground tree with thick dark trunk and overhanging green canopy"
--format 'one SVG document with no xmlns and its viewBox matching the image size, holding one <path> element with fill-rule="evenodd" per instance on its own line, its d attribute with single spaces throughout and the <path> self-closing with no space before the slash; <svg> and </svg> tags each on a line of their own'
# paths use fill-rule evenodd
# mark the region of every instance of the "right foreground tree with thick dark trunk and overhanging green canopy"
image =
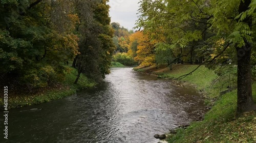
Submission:
<svg viewBox="0 0 256 143">
<path fill-rule="evenodd" d="M 240 115 L 256 109 L 251 94 L 250 62 L 255 4 L 239 0 L 140 1 L 137 27 L 144 27 L 144 32 L 153 39 L 169 44 L 176 58 L 186 57 L 190 52 L 190 63 L 193 55 L 200 53 L 204 53 L 206 65 L 219 64 L 217 60 L 223 55 L 233 61 L 237 59 L 237 115 Z M 216 47 L 218 41 L 223 42 Z M 233 49 L 237 51 L 237 58 L 233 56 Z M 177 51 L 180 54 L 175 55 Z M 213 54 L 215 56 L 211 56 Z"/>
</svg>

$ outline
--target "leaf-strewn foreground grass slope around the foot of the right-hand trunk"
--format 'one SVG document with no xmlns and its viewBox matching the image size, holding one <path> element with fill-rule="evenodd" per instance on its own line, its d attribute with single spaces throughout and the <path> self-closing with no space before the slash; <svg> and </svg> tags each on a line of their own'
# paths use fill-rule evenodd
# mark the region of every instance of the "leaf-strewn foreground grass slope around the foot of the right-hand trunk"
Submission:
<svg viewBox="0 0 256 143">
<path fill-rule="evenodd" d="M 253 98 L 256 101 L 256 84 Z M 168 142 L 256 142 L 256 112 L 244 113 L 236 119 L 237 91 L 220 97 L 205 115 L 202 122 L 195 122 L 187 130 L 179 129 L 169 135 Z"/>
</svg>

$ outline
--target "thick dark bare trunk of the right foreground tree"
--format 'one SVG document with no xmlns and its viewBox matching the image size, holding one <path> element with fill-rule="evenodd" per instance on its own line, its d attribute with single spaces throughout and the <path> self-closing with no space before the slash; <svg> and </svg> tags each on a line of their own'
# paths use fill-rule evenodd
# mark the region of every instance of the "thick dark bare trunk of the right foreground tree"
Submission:
<svg viewBox="0 0 256 143">
<path fill-rule="evenodd" d="M 247 42 L 242 48 L 237 48 L 238 55 L 238 99 L 237 116 L 256 109 L 251 91 L 251 45 Z"/>
</svg>

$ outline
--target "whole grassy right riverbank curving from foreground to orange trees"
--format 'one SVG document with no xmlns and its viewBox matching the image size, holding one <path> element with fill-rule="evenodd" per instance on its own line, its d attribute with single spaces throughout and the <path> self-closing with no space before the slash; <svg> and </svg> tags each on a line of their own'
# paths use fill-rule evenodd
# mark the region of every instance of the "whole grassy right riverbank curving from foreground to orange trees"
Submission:
<svg viewBox="0 0 256 143">
<path fill-rule="evenodd" d="M 177 78 L 194 70 L 197 65 L 173 65 L 173 70 L 165 66 L 135 68 L 135 71 L 156 74 L 160 78 Z M 204 120 L 193 122 L 187 129 L 179 128 L 177 134 L 168 134 L 168 142 L 256 142 L 256 113 L 244 113 L 236 119 L 237 91 L 219 96 L 219 89 L 209 89 L 211 81 L 217 75 L 212 70 L 200 67 L 193 74 L 181 79 L 191 83 L 207 99 L 209 110 Z M 256 84 L 252 85 L 253 98 L 256 101 Z M 215 102 L 216 101 L 216 102 Z"/>
</svg>

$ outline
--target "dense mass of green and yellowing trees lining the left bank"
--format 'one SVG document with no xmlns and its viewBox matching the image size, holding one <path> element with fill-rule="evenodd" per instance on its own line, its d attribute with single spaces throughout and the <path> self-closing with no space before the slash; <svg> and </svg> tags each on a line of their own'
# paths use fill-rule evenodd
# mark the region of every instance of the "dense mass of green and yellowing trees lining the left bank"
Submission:
<svg viewBox="0 0 256 143">
<path fill-rule="evenodd" d="M 107 2 L 1 1 L 1 81 L 47 87 L 65 80 L 68 61 L 75 83 L 81 73 L 104 78 L 115 50 Z"/>
</svg>

